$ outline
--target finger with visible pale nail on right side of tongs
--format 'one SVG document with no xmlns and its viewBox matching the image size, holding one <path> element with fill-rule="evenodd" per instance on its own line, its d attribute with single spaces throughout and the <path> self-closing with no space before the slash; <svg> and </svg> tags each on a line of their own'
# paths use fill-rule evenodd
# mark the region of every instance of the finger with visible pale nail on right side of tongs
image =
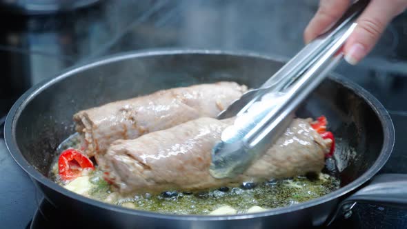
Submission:
<svg viewBox="0 0 407 229">
<path fill-rule="evenodd" d="M 345 60 L 357 64 L 373 49 L 390 21 L 407 7 L 406 0 L 372 0 L 357 19 L 357 27 L 344 46 Z"/>
</svg>

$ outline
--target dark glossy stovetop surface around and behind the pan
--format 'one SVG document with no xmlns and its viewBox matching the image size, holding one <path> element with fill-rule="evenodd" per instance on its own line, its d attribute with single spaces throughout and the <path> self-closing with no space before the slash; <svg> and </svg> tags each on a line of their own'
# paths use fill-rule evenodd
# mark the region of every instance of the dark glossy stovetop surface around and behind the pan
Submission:
<svg viewBox="0 0 407 229">
<path fill-rule="evenodd" d="M 62 14 L 1 14 L 0 123 L 15 99 L 33 84 L 108 54 L 150 48 L 197 48 L 292 57 L 304 46 L 302 31 L 315 10 L 317 1 L 312 0 L 105 0 Z M 395 150 L 381 172 L 407 173 L 407 149 L 403 143 L 407 142 L 406 40 L 405 13 L 393 21 L 372 54 L 359 66 L 341 63 L 337 68 L 337 72 L 374 94 L 393 118 Z M 55 214 L 58 210 L 43 201 L 28 175 L 10 157 L 1 135 L 0 174 L 2 228 L 58 227 L 52 224 L 59 221 Z M 353 212 L 352 217 L 342 219 L 333 228 L 407 225 L 406 210 L 357 204 Z"/>
</svg>

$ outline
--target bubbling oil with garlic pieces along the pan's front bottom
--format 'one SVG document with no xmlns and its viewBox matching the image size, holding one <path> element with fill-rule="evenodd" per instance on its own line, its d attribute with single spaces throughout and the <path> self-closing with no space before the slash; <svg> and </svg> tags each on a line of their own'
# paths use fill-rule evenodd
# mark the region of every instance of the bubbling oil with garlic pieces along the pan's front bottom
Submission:
<svg viewBox="0 0 407 229">
<path fill-rule="evenodd" d="M 57 155 L 67 148 L 79 148 L 79 135 L 75 134 L 61 143 Z M 222 187 L 206 192 L 181 192 L 168 190 L 160 195 L 122 196 L 106 182 L 103 172 L 95 170 L 85 173 L 70 183 L 59 179 L 57 159 L 49 176 L 59 185 L 91 199 L 112 203 L 125 208 L 147 210 L 176 215 L 230 215 L 244 212 L 259 212 L 270 208 L 290 206 L 326 195 L 340 186 L 335 177 L 332 159 L 327 159 L 325 173 L 275 179 L 265 183 L 242 183 L 240 187 Z M 330 165 L 330 166 L 329 166 Z"/>
</svg>

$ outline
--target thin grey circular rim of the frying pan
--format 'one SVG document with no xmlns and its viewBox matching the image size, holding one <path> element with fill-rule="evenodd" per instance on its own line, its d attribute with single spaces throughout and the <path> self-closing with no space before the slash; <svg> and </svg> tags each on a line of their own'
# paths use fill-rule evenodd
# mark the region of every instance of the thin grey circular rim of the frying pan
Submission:
<svg viewBox="0 0 407 229">
<path fill-rule="evenodd" d="M 6 123 L 4 126 L 4 139 L 6 141 L 6 146 L 12 155 L 14 161 L 16 161 L 19 166 L 30 175 L 33 179 L 38 181 L 39 183 L 43 184 L 44 186 L 59 192 L 59 194 L 70 197 L 72 199 L 77 199 L 83 203 L 90 204 L 91 206 L 96 206 L 98 208 L 104 208 L 106 210 L 114 210 L 115 212 L 125 213 L 127 215 L 137 215 L 143 217 L 150 217 L 150 218 L 159 218 L 159 219 L 177 219 L 177 220 L 186 220 L 186 221 L 221 221 L 221 220 L 237 220 L 237 219 L 251 219 L 251 218 L 258 218 L 258 217 L 268 217 L 272 215 L 281 215 L 288 212 L 295 212 L 297 210 L 311 208 L 313 206 L 317 206 L 321 203 L 326 203 L 337 199 L 339 197 L 343 197 L 344 195 L 352 192 L 353 190 L 362 186 L 366 181 L 371 179 L 374 175 L 379 172 L 379 170 L 384 166 L 388 157 L 393 150 L 394 142 L 395 142 L 395 130 L 393 126 L 393 122 L 388 114 L 386 108 L 375 98 L 373 97 L 370 92 L 366 91 L 361 86 L 358 86 L 356 83 L 353 83 L 349 79 L 342 77 L 339 74 L 332 73 L 330 74 L 330 79 L 336 81 L 337 83 L 341 83 L 349 90 L 352 90 L 357 96 L 363 98 L 368 106 L 375 112 L 375 114 L 379 117 L 381 126 L 383 127 L 384 131 L 384 139 L 383 139 L 383 146 L 377 157 L 373 166 L 371 166 L 364 174 L 357 177 L 354 181 L 348 183 L 348 185 L 339 188 L 333 192 L 330 192 L 328 195 L 324 195 L 323 197 L 318 197 L 316 199 L 312 199 L 310 201 L 306 201 L 304 203 L 297 203 L 293 206 L 285 206 L 281 208 L 272 208 L 270 210 L 264 212 L 257 212 L 257 213 L 250 213 L 250 214 L 237 214 L 237 215 L 228 215 L 228 216 L 206 216 L 206 215 L 173 215 L 173 214 L 161 214 L 157 212 L 148 212 L 143 210 L 132 210 L 128 208 L 123 208 L 120 206 L 114 206 L 110 203 L 103 203 L 101 201 L 96 201 L 90 199 L 88 197 L 83 197 L 82 195 L 78 195 L 75 192 L 70 192 L 65 188 L 59 186 L 54 181 L 48 179 L 44 175 L 41 174 L 36 168 L 30 165 L 28 161 L 23 157 L 19 147 L 17 146 L 17 141 L 15 139 L 15 127 L 17 125 L 17 121 L 23 109 L 37 96 L 37 94 L 41 93 L 46 88 L 54 85 L 58 81 L 65 79 L 66 77 L 70 77 L 77 72 L 81 72 L 83 70 L 88 70 L 90 68 L 94 68 L 96 66 L 104 65 L 107 63 L 113 63 L 115 61 L 123 61 L 125 59 L 133 59 L 133 58 L 140 58 L 140 57 L 152 57 L 152 56 L 165 56 L 165 55 L 183 55 L 183 54 L 210 54 L 210 55 L 221 55 L 221 56 L 232 56 L 232 57 L 252 57 L 257 59 L 266 59 L 268 61 L 282 61 L 285 62 L 287 59 L 284 57 L 272 56 L 269 54 L 259 54 L 257 52 L 247 52 L 247 51 L 228 51 L 228 50 L 200 50 L 200 49 L 154 49 L 154 50 L 139 50 L 139 51 L 132 51 L 132 52 L 120 52 L 118 54 L 110 55 L 108 57 L 102 57 L 100 59 L 96 59 L 95 61 L 91 61 L 90 63 L 82 63 L 67 70 L 64 70 L 61 74 L 57 74 L 56 77 L 50 77 L 38 83 L 37 85 L 33 86 L 27 92 L 25 92 L 21 97 L 14 103 L 10 112 L 6 117 Z"/>
</svg>

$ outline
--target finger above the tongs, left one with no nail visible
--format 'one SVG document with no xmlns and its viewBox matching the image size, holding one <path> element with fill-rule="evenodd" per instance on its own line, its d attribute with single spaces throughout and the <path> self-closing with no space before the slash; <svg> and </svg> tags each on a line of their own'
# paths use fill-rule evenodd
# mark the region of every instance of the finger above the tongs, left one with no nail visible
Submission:
<svg viewBox="0 0 407 229">
<path fill-rule="evenodd" d="M 342 17 L 349 5 L 350 0 L 319 1 L 318 11 L 304 31 L 306 43 L 328 31 Z"/>
</svg>

